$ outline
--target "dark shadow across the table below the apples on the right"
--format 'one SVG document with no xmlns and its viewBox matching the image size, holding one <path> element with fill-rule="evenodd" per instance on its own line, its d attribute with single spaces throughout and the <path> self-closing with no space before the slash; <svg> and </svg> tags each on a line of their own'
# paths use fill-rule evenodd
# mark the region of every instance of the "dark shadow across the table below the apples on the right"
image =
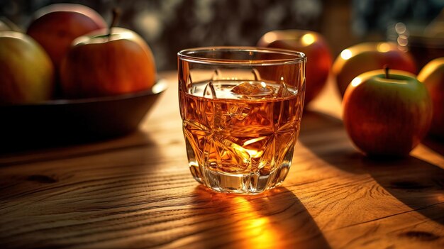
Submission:
<svg viewBox="0 0 444 249">
<path fill-rule="evenodd" d="M 318 131 L 308 128 L 306 132 L 301 131 L 299 141 L 311 152 L 340 170 L 370 175 L 389 194 L 414 211 L 444 224 L 444 170 L 411 156 L 392 160 L 366 157 L 347 143 L 348 135 L 338 118 L 316 112 L 310 112 L 304 118 L 301 128 L 316 126 L 318 131 L 334 132 L 334 143 L 339 147 L 332 153 L 325 149 L 326 142 L 323 145 L 313 143 L 312 137 Z"/>
</svg>

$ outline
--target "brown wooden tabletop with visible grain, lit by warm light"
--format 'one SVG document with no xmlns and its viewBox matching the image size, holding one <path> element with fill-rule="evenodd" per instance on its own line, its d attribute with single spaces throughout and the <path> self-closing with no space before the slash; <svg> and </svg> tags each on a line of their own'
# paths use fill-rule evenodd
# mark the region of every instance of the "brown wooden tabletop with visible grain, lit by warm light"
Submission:
<svg viewBox="0 0 444 249">
<path fill-rule="evenodd" d="M 444 146 L 374 161 L 329 83 L 282 187 L 216 194 L 187 167 L 175 72 L 140 131 L 0 155 L 0 248 L 443 248 Z M 1 138 L 0 138 L 1 139 Z"/>
</svg>

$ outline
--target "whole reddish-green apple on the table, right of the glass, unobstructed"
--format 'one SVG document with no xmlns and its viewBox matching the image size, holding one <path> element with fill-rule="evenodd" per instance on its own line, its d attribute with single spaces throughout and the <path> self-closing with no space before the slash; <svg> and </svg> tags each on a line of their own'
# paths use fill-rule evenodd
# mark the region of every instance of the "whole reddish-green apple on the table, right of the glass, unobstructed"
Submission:
<svg viewBox="0 0 444 249">
<path fill-rule="evenodd" d="M 431 97 L 415 74 L 373 70 L 355 77 L 345 91 L 345 129 L 367 155 L 409 155 L 431 120 Z"/>
</svg>

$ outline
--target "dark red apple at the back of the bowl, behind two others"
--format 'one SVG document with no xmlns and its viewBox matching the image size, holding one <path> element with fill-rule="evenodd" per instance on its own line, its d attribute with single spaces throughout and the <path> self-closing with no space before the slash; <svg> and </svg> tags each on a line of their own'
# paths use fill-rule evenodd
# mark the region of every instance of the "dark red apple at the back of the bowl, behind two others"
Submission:
<svg viewBox="0 0 444 249">
<path fill-rule="evenodd" d="M 87 6 L 52 4 L 35 12 L 27 33 L 43 46 L 58 70 L 75 38 L 101 28 L 106 28 L 104 18 Z"/>
</svg>

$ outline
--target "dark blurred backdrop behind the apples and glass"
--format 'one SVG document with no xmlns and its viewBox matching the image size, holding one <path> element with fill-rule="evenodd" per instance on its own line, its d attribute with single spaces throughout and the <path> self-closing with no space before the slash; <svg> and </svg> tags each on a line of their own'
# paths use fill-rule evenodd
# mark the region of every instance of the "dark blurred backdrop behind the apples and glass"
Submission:
<svg viewBox="0 0 444 249">
<path fill-rule="evenodd" d="M 147 40 L 157 70 L 175 70 L 176 53 L 207 45 L 256 45 L 277 29 L 309 29 L 323 34 L 333 57 L 366 40 L 387 40 L 395 23 L 427 26 L 444 8 L 444 0 L 0 0 L 0 16 L 26 30 L 34 11 L 55 3 L 95 9 L 106 21 L 118 6 L 118 26 Z"/>
</svg>

